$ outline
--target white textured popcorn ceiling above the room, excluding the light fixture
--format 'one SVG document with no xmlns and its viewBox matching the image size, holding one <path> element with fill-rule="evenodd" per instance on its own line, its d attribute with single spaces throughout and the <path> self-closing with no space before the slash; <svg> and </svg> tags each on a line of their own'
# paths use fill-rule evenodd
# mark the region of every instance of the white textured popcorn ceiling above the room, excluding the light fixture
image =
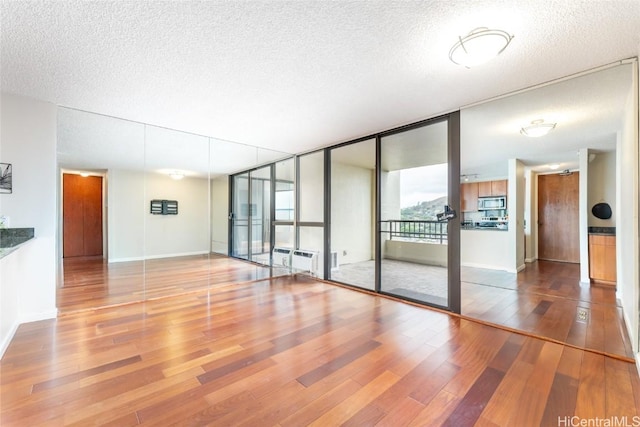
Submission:
<svg viewBox="0 0 640 427">
<path fill-rule="evenodd" d="M 629 1 L 2 1 L 2 90 L 297 153 L 640 50 Z M 482 67 L 459 35 L 515 35 Z"/>
</svg>

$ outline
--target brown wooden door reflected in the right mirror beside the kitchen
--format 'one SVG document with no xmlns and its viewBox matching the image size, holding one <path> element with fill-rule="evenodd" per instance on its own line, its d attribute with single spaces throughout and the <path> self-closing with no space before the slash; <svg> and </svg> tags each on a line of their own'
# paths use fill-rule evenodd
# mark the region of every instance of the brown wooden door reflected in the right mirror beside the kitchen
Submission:
<svg viewBox="0 0 640 427">
<path fill-rule="evenodd" d="M 579 173 L 538 176 L 538 258 L 580 262 Z"/>
</svg>

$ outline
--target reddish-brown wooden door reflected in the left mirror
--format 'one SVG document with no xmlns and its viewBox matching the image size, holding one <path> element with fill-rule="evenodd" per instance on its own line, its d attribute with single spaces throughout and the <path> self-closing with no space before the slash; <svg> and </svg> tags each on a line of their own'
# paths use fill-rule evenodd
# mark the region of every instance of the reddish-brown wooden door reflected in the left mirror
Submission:
<svg viewBox="0 0 640 427">
<path fill-rule="evenodd" d="M 62 175 L 63 257 L 102 255 L 102 177 Z"/>
</svg>

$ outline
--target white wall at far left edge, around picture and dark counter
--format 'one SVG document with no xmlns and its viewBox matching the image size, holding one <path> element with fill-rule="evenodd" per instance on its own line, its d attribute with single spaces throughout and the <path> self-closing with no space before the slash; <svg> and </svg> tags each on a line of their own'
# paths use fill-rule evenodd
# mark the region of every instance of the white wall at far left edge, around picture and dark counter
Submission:
<svg viewBox="0 0 640 427">
<path fill-rule="evenodd" d="M 13 193 L 0 195 L 0 213 L 11 227 L 34 227 L 36 236 L 0 263 L 3 352 L 19 323 L 57 314 L 57 107 L 3 93 L 0 111 L 0 161 L 13 165 Z"/>
</svg>

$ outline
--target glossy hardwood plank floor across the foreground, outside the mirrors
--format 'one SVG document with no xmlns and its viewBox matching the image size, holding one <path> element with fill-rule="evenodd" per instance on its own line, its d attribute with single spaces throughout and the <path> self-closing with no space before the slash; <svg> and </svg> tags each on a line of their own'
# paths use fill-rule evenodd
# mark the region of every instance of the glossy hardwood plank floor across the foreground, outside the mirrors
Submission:
<svg viewBox="0 0 640 427">
<path fill-rule="evenodd" d="M 3 427 L 640 415 L 632 363 L 300 275 L 23 324 L 0 370 Z"/>
</svg>

